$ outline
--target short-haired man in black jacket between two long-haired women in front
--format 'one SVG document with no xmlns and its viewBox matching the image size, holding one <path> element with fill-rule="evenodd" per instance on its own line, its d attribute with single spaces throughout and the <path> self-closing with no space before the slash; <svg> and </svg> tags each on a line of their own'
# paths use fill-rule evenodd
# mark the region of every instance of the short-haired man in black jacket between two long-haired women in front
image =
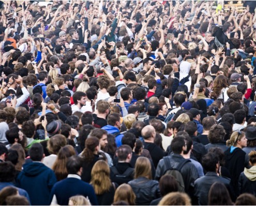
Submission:
<svg viewBox="0 0 256 206">
<path fill-rule="evenodd" d="M 132 149 L 129 145 L 117 148 L 118 163 L 110 167 L 110 179 L 118 185 L 128 183 L 134 177 L 134 168 L 130 165 Z"/>
</svg>

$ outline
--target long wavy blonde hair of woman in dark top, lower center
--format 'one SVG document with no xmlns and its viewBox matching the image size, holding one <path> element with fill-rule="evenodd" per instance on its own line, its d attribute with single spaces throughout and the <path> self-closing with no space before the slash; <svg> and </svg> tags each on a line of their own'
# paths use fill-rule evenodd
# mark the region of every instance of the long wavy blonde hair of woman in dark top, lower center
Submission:
<svg viewBox="0 0 256 206">
<path fill-rule="evenodd" d="M 110 168 L 106 161 L 97 161 L 92 169 L 92 179 L 90 184 L 93 185 L 96 195 L 101 195 L 111 188 Z"/>
</svg>

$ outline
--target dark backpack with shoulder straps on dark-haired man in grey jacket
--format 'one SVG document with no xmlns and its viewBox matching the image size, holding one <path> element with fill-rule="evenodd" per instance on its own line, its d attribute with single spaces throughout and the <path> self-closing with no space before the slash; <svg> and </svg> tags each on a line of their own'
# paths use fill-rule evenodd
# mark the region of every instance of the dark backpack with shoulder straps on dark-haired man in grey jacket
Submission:
<svg viewBox="0 0 256 206">
<path fill-rule="evenodd" d="M 176 168 L 173 168 L 171 166 L 170 160 L 168 157 L 163 157 L 163 161 L 164 161 L 164 164 L 167 166 L 167 169 L 165 170 L 165 172 L 163 174 L 168 174 L 168 175 L 173 176 L 178 183 L 178 191 L 185 192 L 185 184 L 184 184 L 182 174 L 180 173 L 180 170 L 187 162 L 191 162 L 191 161 L 188 159 L 185 159 L 182 162 L 179 162 L 179 164 Z"/>
</svg>

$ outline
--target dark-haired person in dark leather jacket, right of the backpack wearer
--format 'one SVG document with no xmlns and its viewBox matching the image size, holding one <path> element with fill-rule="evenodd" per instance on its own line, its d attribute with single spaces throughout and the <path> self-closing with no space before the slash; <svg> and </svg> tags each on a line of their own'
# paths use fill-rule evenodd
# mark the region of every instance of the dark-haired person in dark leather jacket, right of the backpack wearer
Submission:
<svg viewBox="0 0 256 206">
<path fill-rule="evenodd" d="M 208 193 L 213 183 L 222 182 L 226 187 L 229 187 L 230 181 L 217 175 L 219 158 L 215 153 L 208 152 L 203 156 L 202 165 L 206 174 L 194 181 L 194 195 L 198 198 L 199 205 L 207 205 Z"/>
</svg>

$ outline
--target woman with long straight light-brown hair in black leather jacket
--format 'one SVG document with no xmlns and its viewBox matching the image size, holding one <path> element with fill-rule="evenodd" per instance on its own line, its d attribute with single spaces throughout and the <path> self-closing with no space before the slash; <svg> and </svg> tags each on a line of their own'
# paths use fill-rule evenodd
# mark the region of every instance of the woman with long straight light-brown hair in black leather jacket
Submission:
<svg viewBox="0 0 256 206">
<path fill-rule="evenodd" d="M 139 157 L 135 164 L 134 180 L 128 182 L 136 194 L 135 204 L 149 205 L 152 200 L 161 197 L 159 183 L 156 180 L 152 180 L 151 175 L 149 160 L 145 157 Z"/>
</svg>

